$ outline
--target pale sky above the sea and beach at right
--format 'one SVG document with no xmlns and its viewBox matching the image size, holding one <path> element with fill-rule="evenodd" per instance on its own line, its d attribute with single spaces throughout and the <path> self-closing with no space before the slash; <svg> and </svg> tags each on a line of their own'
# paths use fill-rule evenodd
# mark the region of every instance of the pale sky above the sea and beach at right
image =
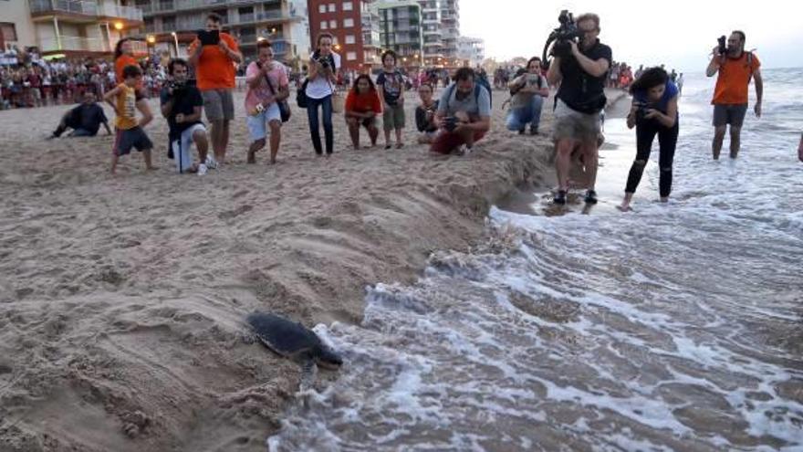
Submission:
<svg viewBox="0 0 803 452">
<path fill-rule="evenodd" d="M 615 60 L 634 67 L 703 71 L 716 38 L 736 29 L 746 33 L 746 49 L 756 49 L 763 68 L 803 67 L 798 0 L 460 0 L 460 33 L 484 38 L 485 58 L 540 56 L 562 9 L 600 15 L 600 41 Z"/>
</svg>

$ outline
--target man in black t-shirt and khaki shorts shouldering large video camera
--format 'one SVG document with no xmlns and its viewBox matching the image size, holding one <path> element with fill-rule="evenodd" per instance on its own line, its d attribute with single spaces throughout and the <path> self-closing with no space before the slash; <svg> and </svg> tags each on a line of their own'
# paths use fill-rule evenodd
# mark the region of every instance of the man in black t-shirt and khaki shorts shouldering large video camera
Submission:
<svg viewBox="0 0 803 452">
<path fill-rule="evenodd" d="M 561 20 L 563 23 L 563 20 Z M 580 43 L 558 40 L 553 47 L 555 58 L 547 71 L 552 85 L 560 84 L 556 96 L 554 139 L 558 149 L 558 194 L 554 203 L 566 204 L 571 153 L 579 147 L 589 175 L 585 201 L 597 202 L 594 184 L 597 181 L 600 110 L 605 107 L 605 76 L 612 62 L 610 47 L 601 44 L 600 16 L 584 14 L 577 20 Z"/>
</svg>

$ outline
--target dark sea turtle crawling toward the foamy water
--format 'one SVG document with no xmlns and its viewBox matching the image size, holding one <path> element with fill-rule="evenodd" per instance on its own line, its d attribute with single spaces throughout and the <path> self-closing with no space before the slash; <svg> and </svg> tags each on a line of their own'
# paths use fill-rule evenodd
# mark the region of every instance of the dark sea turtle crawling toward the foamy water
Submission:
<svg viewBox="0 0 803 452">
<path fill-rule="evenodd" d="M 254 312 L 246 321 L 267 348 L 301 364 L 302 387 L 314 381 L 316 364 L 327 369 L 338 369 L 343 364 L 338 353 L 301 323 L 266 312 Z"/>
</svg>

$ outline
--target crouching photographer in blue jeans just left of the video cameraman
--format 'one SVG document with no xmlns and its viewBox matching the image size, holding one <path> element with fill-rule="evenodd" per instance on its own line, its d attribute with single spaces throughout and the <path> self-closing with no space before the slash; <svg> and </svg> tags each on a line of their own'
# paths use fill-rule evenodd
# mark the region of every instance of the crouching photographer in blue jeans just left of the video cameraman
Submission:
<svg viewBox="0 0 803 452">
<path fill-rule="evenodd" d="M 541 107 L 544 98 L 549 96 L 547 79 L 541 75 L 541 58 L 533 57 L 527 61 L 527 70 L 513 79 L 507 86 L 510 94 L 510 113 L 507 115 L 507 130 L 518 131 L 523 135 L 527 124 L 530 135 L 538 134 L 541 122 Z"/>
</svg>

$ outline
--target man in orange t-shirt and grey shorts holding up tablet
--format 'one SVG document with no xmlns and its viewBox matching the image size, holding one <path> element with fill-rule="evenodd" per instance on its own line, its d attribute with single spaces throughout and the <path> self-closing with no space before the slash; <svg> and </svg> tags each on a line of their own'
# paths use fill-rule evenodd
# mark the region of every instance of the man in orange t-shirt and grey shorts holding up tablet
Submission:
<svg viewBox="0 0 803 452">
<path fill-rule="evenodd" d="M 235 119 L 235 64 L 243 62 L 243 54 L 234 37 L 220 31 L 221 16 L 214 13 L 206 16 L 206 31 L 217 30 L 220 41 L 217 45 L 203 46 L 195 39 L 190 44 L 190 65 L 195 69 L 195 80 L 203 97 L 206 119 L 212 124 L 212 149 L 214 158 L 207 156 L 206 166 L 215 168 L 224 163 L 229 142 L 229 123 Z"/>
</svg>

